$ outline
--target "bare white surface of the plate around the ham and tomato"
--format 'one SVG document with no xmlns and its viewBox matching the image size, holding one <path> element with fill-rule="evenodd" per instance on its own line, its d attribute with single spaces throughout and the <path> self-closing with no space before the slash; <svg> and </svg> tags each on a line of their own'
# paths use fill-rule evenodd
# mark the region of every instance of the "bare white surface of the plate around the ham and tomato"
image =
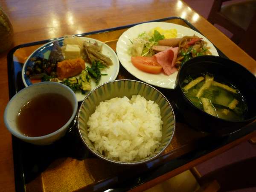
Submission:
<svg viewBox="0 0 256 192">
<path fill-rule="evenodd" d="M 207 42 L 207 47 L 209 51 L 212 52 L 212 55 L 218 56 L 218 52 L 212 43 L 200 33 L 187 28 L 185 26 L 177 25 L 174 23 L 165 23 L 165 22 L 151 22 L 151 23 L 142 23 L 136 26 L 131 27 L 127 31 L 125 31 L 118 39 L 116 44 L 116 53 L 121 62 L 122 66 L 131 73 L 136 78 L 144 81 L 148 84 L 155 85 L 157 87 L 163 87 L 167 89 L 174 89 L 175 87 L 175 80 L 177 76 L 177 72 L 173 73 L 170 76 L 166 76 L 163 73 L 160 74 L 150 74 L 145 73 L 141 70 L 138 70 L 134 65 L 131 63 L 131 55 L 128 54 L 128 48 L 131 45 L 130 40 L 137 38 L 139 34 L 143 32 L 148 32 L 155 27 L 160 27 L 162 29 L 177 29 L 177 38 L 182 38 L 186 35 L 196 35 L 200 38 L 203 38 L 204 41 Z"/>
</svg>

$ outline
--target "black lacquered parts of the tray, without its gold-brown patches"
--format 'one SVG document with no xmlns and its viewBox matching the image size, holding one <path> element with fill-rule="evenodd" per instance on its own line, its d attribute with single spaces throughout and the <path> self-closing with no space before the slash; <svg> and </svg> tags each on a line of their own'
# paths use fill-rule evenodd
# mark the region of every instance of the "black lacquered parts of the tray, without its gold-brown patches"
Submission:
<svg viewBox="0 0 256 192">
<path fill-rule="evenodd" d="M 163 18 L 159 20 L 152 20 L 149 22 L 155 22 L 155 21 L 159 22 L 159 21 L 169 21 L 169 20 L 178 20 L 178 21 L 180 20 L 180 22 L 185 23 L 186 26 L 199 32 L 194 26 L 192 26 L 191 23 L 189 23 L 187 20 L 184 20 L 180 17 L 168 17 L 168 18 Z M 79 36 L 113 32 L 120 29 L 127 29 L 137 24 L 140 24 L 140 23 L 83 33 L 83 34 L 79 34 Z M 22 66 L 20 63 L 13 61 L 13 54 L 15 53 L 15 51 L 22 47 L 30 47 L 30 46 L 35 46 L 39 44 L 45 44 L 53 40 L 55 39 L 38 41 L 38 42 L 29 43 L 29 44 L 22 44 L 17 47 L 14 47 L 8 53 L 7 61 L 8 61 L 9 98 L 10 99 L 19 90 L 21 90 L 24 87 L 21 79 Z M 217 49 L 218 54 L 221 57 L 227 58 L 217 47 L 215 48 Z M 120 70 L 128 74 L 128 72 L 122 67 L 122 65 L 120 65 Z M 131 75 L 130 76 L 128 75 L 128 78 L 136 79 Z M 166 90 L 158 87 L 157 89 L 163 92 L 167 96 L 167 98 L 170 98 L 169 95 L 175 94 L 175 90 Z M 175 111 L 175 113 L 177 113 L 177 111 Z M 183 119 L 180 116 L 177 117 L 176 121 L 178 123 L 180 122 L 179 126 L 187 127 L 187 125 L 184 123 Z M 190 128 L 186 128 L 185 130 L 189 130 L 189 129 Z M 214 151 L 215 149 L 220 148 L 240 137 L 243 137 L 249 134 L 250 132 L 252 132 L 254 129 L 255 129 L 255 124 L 252 123 L 226 137 L 211 137 L 207 134 L 196 133 L 196 132 L 194 133 L 192 130 L 189 130 L 189 131 L 192 131 L 194 134 L 200 135 L 200 137 L 198 137 L 198 139 L 194 141 L 186 143 L 186 145 L 181 143 L 177 148 L 175 148 L 172 151 L 169 151 L 169 153 L 163 154 L 156 160 L 153 160 L 152 162 L 149 162 L 146 165 L 140 167 L 143 170 L 142 172 L 138 172 L 138 173 L 135 173 L 135 175 L 130 175 L 130 176 L 116 175 L 113 177 L 108 177 L 103 180 L 97 181 L 93 185 L 87 186 L 86 189 L 81 189 L 81 191 L 84 191 L 84 190 L 85 191 L 102 191 L 107 189 L 112 189 L 111 192 L 127 191 L 147 181 L 150 181 L 156 177 L 159 177 L 160 175 L 170 172 L 180 166 L 183 166 L 184 164 L 189 163 L 190 161 L 195 160 L 205 154 L 208 154 L 209 152 Z M 86 148 L 81 147 L 82 143 L 80 142 L 79 138 L 77 140 L 74 140 L 74 138 L 78 138 L 76 128 L 70 129 L 70 131 L 67 132 L 66 136 L 62 138 L 60 141 L 52 145 L 43 146 L 43 147 L 24 143 L 23 141 L 12 136 L 16 191 L 18 192 L 27 191 L 28 189 L 26 190 L 26 185 L 30 183 L 32 180 L 34 180 L 35 177 L 40 175 L 41 172 L 44 172 L 44 170 L 47 169 L 47 167 L 52 162 L 52 160 L 56 158 L 72 157 L 78 160 L 83 160 L 85 158 L 95 158 L 93 157 L 92 154 L 90 154 L 87 151 Z M 179 152 L 179 151 L 183 151 L 183 152 Z M 132 169 L 136 169 L 136 168 L 132 168 Z M 37 187 L 38 186 L 35 186 L 34 189 L 38 189 Z"/>
</svg>

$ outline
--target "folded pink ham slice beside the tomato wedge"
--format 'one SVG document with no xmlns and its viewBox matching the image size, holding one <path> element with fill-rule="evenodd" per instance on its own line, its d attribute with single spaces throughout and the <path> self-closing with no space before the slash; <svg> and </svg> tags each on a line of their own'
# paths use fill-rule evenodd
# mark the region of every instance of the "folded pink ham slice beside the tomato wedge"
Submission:
<svg viewBox="0 0 256 192">
<path fill-rule="evenodd" d="M 159 63 L 163 67 L 164 73 L 166 75 L 172 75 L 177 69 L 175 68 L 175 61 L 178 54 L 178 47 L 170 47 L 164 51 L 161 51 L 154 55 Z"/>
</svg>

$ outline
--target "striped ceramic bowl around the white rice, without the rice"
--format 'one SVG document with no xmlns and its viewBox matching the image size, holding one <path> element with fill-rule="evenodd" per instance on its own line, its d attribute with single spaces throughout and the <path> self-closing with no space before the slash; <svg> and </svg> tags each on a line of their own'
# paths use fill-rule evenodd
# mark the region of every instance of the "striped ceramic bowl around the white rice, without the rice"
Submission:
<svg viewBox="0 0 256 192">
<path fill-rule="evenodd" d="M 90 115 L 94 113 L 96 106 L 98 106 L 100 102 L 112 99 L 114 97 L 124 96 L 127 96 L 129 99 L 131 99 L 131 96 L 138 94 L 143 96 L 146 100 L 152 100 L 159 105 L 160 114 L 163 121 L 161 144 L 153 154 L 139 161 L 125 162 L 108 159 L 104 155 L 100 154 L 99 151 L 95 149 L 93 143 L 89 140 L 87 121 Z M 99 158 L 107 160 L 111 163 L 136 165 L 148 162 L 159 156 L 170 144 L 175 130 L 175 115 L 172 106 L 166 97 L 151 85 L 134 80 L 115 80 L 96 87 L 85 97 L 79 109 L 78 130 L 84 145 L 86 145 L 86 147 Z"/>
</svg>

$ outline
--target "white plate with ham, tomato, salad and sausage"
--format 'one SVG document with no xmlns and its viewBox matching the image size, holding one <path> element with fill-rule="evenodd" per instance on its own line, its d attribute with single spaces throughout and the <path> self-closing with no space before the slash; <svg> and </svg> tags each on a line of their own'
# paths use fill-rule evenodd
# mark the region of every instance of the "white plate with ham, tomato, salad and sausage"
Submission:
<svg viewBox="0 0 256 192">
<path fill-rule="evenodd" d="M 177 71 L 190 58 L 216 55 L 213 44 L 200 33 L 174 23 L 142 23 L 118 39 L 116 53 L 122 66 L 148 84 L 175 88 Z"/>
</svg>

